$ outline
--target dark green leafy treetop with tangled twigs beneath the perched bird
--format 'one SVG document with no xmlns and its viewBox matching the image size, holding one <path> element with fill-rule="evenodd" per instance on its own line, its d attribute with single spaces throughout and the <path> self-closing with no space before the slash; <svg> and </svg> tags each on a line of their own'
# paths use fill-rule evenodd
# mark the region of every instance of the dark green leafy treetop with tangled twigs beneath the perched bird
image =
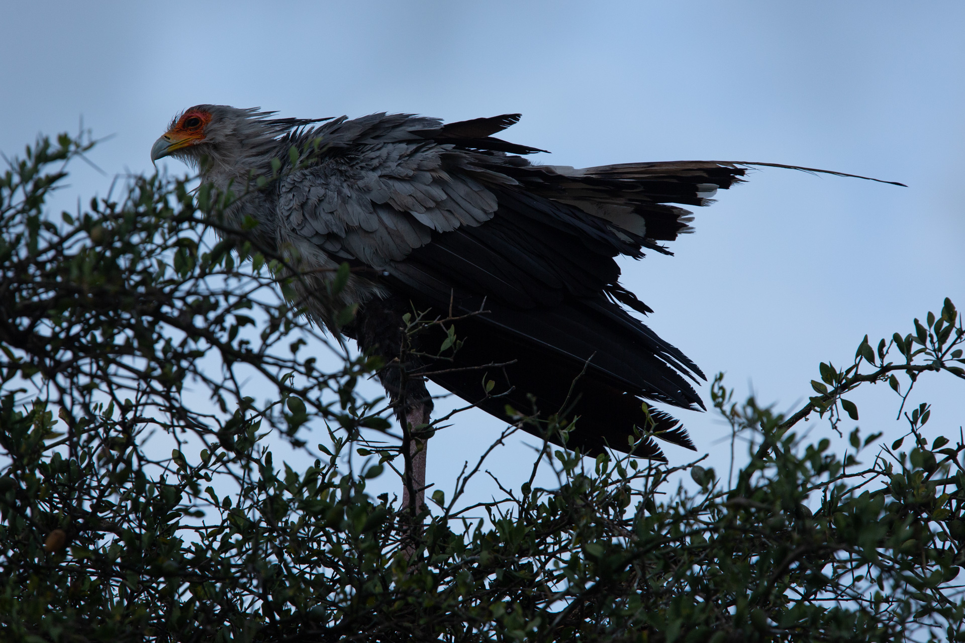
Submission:
<svg viewBox="0 0 965 643">
<path fill-rule="evenodd" d="M 356 388 L 383 364 L 318 335 L 290 303 L 299 277 L 243 230 L 214 240 L 224 197 L 135 177 L 51 216 L 55 168 L 90 145 L 42 140 L 0 179 L 4 641 L 965 640 L 960 435 L 926 440 L 926 404 L 891 445 L 855 430 L 843 459 L 795 433 L 856 419 L 842 395 L 869 383 L 904 404 L 925 374 L 965 379 L 949 300 L 820 364 L 790 416 L 734 403 L 718 376 L 716 411 L 753 443 L 733 484 L 545 442 L 518 491 L 466 499 L 483 455 L 416 528 L 367 493 L 411 438 Z M 409 324 L 458 348 L 459 319 Z M 513 419 L 504 440 L 570 426 Z M 314 466 L 274 462 L 272 434 Z M 538 488 L 538 467 L 558 484 Z M 667 489 L 684 469 L 700 491 Z"/>
</svg>

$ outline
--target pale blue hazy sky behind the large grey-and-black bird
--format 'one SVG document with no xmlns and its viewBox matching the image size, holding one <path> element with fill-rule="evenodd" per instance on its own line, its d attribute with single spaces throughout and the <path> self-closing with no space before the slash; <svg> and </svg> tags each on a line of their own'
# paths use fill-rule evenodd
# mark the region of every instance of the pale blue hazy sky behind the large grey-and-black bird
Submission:
<svg viewBox="0 0 965 643">
<path fill-rule="evenodd" d="M 660 335 L 789 408 L 818 362 L 850 360 L 866 333 L 909 332 L 946 296 L 965 308 L 963 25 L 955 2 L 14 3 L 0 150 L 83 117 L 114 135 L 98 166 L 148 172 L 153 140 L 201 102 L 309 118 L 521 112 L 506 138 L 552 150 L 540 162 L 769 161 L 907 183 L 763 169 L 702 208 L 676 256 L 623 264 Z M 65 204 L 106 192 L 109 176 L 74 171 Z M 951 437 L 963 391 L 925 380 L 910 401 L 935 403 L 928 429 Z M 855 401 L 864 432 L 899 430 L 887 391 Z M 720 469 L 724 428 L 684 415 Z M 440 434 L 429 478 L 500 428 L 479 414 Z M 501 453 L 510 471 L 530 458 Z"/>
</svg>

